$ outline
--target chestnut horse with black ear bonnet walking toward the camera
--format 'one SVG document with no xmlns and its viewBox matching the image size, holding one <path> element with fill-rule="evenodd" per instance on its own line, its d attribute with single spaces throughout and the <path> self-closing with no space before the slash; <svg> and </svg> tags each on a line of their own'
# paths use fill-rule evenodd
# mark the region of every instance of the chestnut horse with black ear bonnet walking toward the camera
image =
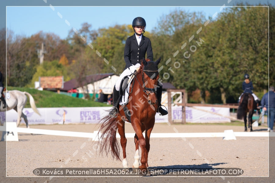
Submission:
<svg viewBox="0 0 275 183">
<path fill-rule="evenodd" d="M 146 60 L 146 62 L 145 62 Z M 116 131 L 120 135 L 120 145 L 123 151 L 123 167 L 128 167 L 126 159 L 126 143 L 125 137 L 125 121 L 131 122 L 135 131 L 135 155 L 134 168 L 147 170 L 148 168 L 148 153 L 150 150 L 150 134 L 155 124 L 155 115 L 158 108 L 156 89 L 159 79 L 158 63 L 145 59 L 138 71 L 136 71 L 134 79 L 130 85 L 129 102 L 126 107 L 130 111 L 130 120 L 127 120 L 123 108 L 119 106 L 119 113 L 116 118 L 105 116 L 99 123 L 99 147 L 100 152 L 105 151 L 107 154 L 110 151 L 113 158 L 121 160 L 119 156 L 119 143 L 116 139 Z M 145 137 L 143 132 L 145 131 Z M 99 135 L 101 133 L 101 135 Z M 141 159 L 139 155 L 139 146 L 141 148 Z M 139 160 L 141 164 L 139 163 Z"/>
</svg>

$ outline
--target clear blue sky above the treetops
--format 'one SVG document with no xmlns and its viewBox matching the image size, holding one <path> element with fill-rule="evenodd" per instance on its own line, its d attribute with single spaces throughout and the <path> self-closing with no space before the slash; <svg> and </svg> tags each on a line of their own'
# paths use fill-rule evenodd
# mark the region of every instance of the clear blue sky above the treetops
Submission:
<svg viewBox="0 0 275 183">
<path fill-rule="evenodd" d="M 221 4 L 222 5 L 222 4 Z M 51 32 L 64 39 L 73 27 L 76 30 L 81 24 L 87 22 L 93 30 L 102 27 L 110 27 L 116 24 L 131 24 L 133 19 L 141 16 L 146 20 L 146 29 L 151 31 L 157 26 L 158 20 L 163 15 L 169 14 L 175 9 L 186 12 L 203 12 L 206 17 L 220 13 L 221 6 L 205 7 L 152 7 L 152 6 L 128 6 L 128 7 L 85 7 L 85 6 L 8 6 L 6 7 L 6 27 L 16 35 L 31 36 L 43 31 Z"/>
</svg>

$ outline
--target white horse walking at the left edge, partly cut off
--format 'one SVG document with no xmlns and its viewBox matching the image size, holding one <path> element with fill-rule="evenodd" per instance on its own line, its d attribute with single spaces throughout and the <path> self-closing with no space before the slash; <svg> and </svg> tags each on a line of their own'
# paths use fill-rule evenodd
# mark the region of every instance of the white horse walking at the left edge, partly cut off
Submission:
<svg viewBox="0 0 275 183">
<path fill-rule="evenodd" d="M 3 91 L 3 92 L 5 92 L 5 91 Z M 8 110 L 14 109 L 18 113 L 17 123 L 16 123 L 17 127 L 20 124 L 21 117 L 23 117 L 24 121 L 27 125 L 27 128 L 29 128 L 27 116 L 23 113 L 23 108 L 26 105 L 26 102 L 27 102 L 27 99 L 28 99 L 26 95 L 28 95 L 29 98 L 30 98 L 30 104 L 31 104 L 32 110 L 35 113 L 37 113 L 39 116 L 41 116 L 39 111 L 37 110 L 37 108 L 35 106 L 35 101 L 34 101 L 33 97 L 31 96 L 31 94 L 29 94 L 26 91 L 18 91 L 18 90 L 6 91 L 5 99 L 6 99 L 7 107 L 4 108 L 4 109 L 3 109 L 3 105 L 2 105 L 2 101 L 1 101 L 0 111 L 8 111 Z M 4 123 L 1 120 L 1 125 L 3 126 L 3 124 Z"/>
</svg>

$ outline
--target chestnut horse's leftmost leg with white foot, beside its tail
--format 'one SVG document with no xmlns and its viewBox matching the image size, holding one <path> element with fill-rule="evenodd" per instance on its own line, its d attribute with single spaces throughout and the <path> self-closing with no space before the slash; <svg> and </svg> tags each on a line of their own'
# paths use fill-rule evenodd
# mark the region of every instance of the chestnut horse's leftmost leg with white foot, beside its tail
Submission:
<svg viewBox="0 0 275 183">
<path fill-rule="evenodd" d="M 122 166 L 123 168 L 128 168 L 128 161 L 126 158 L 126 144 L 127 139 L 125 137 L 125 122 L 123 120 L 119 120 L 117 123 L 118 132 L 120 135 L 120 145 L 123 151 L 123 160 L 122 160 Z"/>
</svg>

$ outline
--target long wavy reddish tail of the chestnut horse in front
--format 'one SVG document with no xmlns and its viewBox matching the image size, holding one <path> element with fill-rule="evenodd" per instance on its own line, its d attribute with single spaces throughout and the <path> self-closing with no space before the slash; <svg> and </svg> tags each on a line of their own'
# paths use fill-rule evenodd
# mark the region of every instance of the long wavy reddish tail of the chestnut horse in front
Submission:
<svg viewBox="0 0 275 183">
<path fill-rule="evenodd" d="M 99 147 L 100 147 L 100 153 L 103 151 L 108 154 L 111 148 L 111 153 L 113 158 L 116 158 L 116 160 L 121 160 L 119 157 L 119 143 L 116 139 L 116 131 L 117 131 L 117 123 L 116 118 L 105 116 L 103 117 L 98 124 L 100 124 L 99 127 Z M 101 135 L 99 135 L 101 133 Z"/>
</svg>

